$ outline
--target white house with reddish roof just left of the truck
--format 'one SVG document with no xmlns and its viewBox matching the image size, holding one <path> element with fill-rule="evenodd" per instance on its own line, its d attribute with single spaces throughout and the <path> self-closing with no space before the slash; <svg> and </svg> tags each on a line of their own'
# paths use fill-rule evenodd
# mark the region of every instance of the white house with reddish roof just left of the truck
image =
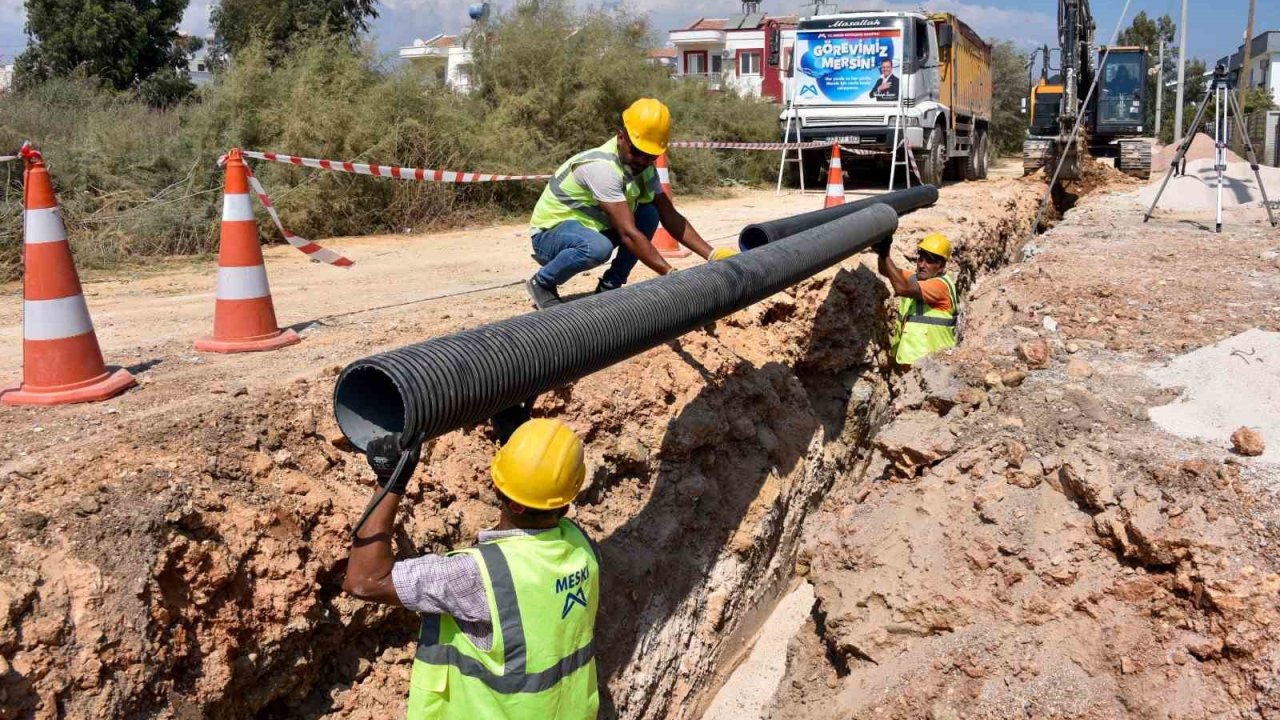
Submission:
<svg viewBox="0 0 1280 720">
<path fill-rule="evenodd" d="M 676 76 L 707 82 L 712 90 L 782 101 L 782 76 L 795 44 L 795 17 L 771 18 L 744 3 L 731 18 L 700 18 L 668 33 L 676 49 Z"/>
</svg>

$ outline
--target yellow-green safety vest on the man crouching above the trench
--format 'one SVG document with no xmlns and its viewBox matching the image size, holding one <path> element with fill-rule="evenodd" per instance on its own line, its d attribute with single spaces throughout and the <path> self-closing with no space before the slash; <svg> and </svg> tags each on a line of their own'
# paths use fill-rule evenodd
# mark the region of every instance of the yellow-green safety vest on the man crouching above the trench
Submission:
<svg viewBox="0 0 1280 720">
<path fill-rule="evenodd" d="M 643 173 L 632 174 L 618 158 L 618 138 L 614 137 L 599 147 L 573 155 L 564 161 L 543 188 L 543 195 L 534 206 L 529 224 L 538 229 L 550 229 L 564 220 L 577 220 L 582 227 L 603 232 L 609 227 L 609 218 L 600 210 L 600 204 L 591 191 L 573 179 L 573 169 L 584 163 L 605 163 L 622 178 L 622 193 L 627 206 L 636 211 L 641 202 L 653 202 L 652 186 L 657 183 L 658 170 L 652 165 Z"/>
</svg>

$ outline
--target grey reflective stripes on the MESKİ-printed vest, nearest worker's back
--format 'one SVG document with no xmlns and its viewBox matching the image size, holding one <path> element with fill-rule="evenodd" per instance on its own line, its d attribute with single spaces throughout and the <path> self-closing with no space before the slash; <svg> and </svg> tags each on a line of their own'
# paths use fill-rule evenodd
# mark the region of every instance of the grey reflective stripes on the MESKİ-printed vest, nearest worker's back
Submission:
<svg viewBox="0 0 1280 720">
<path fill-rule="evenodd" d="M 540 673 L 526 673 L 525 624 L 520 618 L 520 603 L 516 601 L 516 587 L 511 579 L 511 568 L 502 550 L 495 544 L 480 544 L 480 555 L 489 568 L 493 594 L 498 601 L 504 650 L 503 674 L 495 675 L 474 657 L 458 652 L 458 648 L 435 644 L 440 637 L 440 616 L 424 615 L 422 628 L 417 635 L 417 660 L 431 665 L 452 665 L 458 673 L 475 678 L 499 693 L 536 693 L 550 689 L 556 683 L 582 667 L 595 656 L 594 642 L 564 657 L 558 665 Z"/>
</svg>

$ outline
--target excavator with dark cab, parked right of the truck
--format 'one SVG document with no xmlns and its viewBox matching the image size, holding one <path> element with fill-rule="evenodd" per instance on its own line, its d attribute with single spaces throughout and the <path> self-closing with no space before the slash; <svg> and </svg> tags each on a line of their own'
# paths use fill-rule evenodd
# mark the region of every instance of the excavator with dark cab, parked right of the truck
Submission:
<svg viewBox="0 0 1280 720">
<path fill-rule="evenodd" d="M 1147 50 L 1100 47 L 1094 55 L 1094 22 L 1089 0 L 1059 0 L 1059 67 L 1048 46 L 1041 49 L 1039 82 L 1032 87 L 1030 117 L 1023 142 L 1023 173 L 1050 173 L 1065 156 L 1059 179 L 1079 179 L 1082 158 L 1116 158 L 1116 168 L 1135 178 L 1151 177 L 1153 138 L 1144 137 Z M 1050 76 L 1051 70 L 1057 74 Z M 1101 73 L 1101 77 L 1100 77 Z M 1084 100 L 1094 77 L 1098 87 Z M 1024 108 L 1024 111 L 1027 108 Z M 1071 136 L 1080 126 L 1080 132 Z"/>
</svg>

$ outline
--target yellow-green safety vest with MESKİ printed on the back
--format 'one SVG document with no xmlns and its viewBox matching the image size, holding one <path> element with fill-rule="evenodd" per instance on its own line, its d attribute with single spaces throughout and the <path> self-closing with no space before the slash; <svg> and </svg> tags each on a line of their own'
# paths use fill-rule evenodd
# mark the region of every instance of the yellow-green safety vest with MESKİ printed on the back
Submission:
<svg viewBox="0 0 1280 720">
<path fill-rule="evenodd" d="M 582 529 L 562 519 L 460 552 L 480 566 L 493 647 L 477 648 L 449 615 L 422 615 L 407 719 L 594 719 L 600 561 Z"/>
</svg>

